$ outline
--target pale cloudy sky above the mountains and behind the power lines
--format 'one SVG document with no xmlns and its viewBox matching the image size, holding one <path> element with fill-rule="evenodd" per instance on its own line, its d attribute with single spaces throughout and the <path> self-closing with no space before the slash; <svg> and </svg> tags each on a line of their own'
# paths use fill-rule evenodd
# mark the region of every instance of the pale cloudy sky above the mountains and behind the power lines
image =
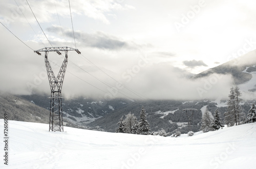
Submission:
<svg viewBox="0 0 256 169">
<path fill-rule="evenodd" d="M 252 0 L 71 0 L 76 44 L 68 0 L 28 3 L 0 2 L 0 21 L 30 47 L 0 24 L 0 90 L 13 94 L 50 94 L 44 57 L 33 50 L 51 45 L 82 53 L 69 52 L 62 89 L 67 97 L 157 99 L 201 99 L 198 88 L 204 82 L 188 80 L 189 73 L 256 47 Z M 50 53 L 48 58 L 57 74 L 63 54 Z M 218 97 L 214 89 L 220 86 L 220 93 L 228 94 L 232 79 L 224 79 L 205 97 Z"/>
</svg>

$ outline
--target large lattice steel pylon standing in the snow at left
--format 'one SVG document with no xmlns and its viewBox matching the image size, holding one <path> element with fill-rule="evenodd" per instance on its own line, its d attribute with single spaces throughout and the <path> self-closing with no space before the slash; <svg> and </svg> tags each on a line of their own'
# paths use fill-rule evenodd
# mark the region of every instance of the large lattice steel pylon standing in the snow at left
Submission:
<svg viewBox="0 0 256 169">
<path fill-rule="evenodd" d="M 51 88 L 49 131 L 63 131 L 61 89 L 68 64 L 68 51 L 70 50 L 75 50 L 78 54 L 81 54 L 78 49 L 71 47 L 46 47 L 34 51 L 39 55 L 41 55 L 40 52 L 45 52 L 46 71 Z M 56 51 L 58 54 L 61 54 L 60 51 L 65 51 L 65 59 L 60 67 L 57 77 L 55 77 L 48 60 L 48 53 L 50 51 Z"/>
</svg>

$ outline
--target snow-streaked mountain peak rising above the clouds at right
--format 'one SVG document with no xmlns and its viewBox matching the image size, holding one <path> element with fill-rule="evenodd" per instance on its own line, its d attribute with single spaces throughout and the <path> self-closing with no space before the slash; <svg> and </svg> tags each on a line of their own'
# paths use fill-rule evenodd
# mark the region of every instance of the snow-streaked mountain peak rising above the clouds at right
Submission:
<svg viewBox="0 0 256 169">
<path fill-rule="evenodd" d="M 253 50 L 242 55 L 241 57 L 194 75 L 192 78 L 197 79 L 207 77 L 214 73 L 231 74 L 234 79 L 234 85 L 242 85 L 252 79 L 252 74 L 256 72 L 255 65 L 256 50 Z M 254 89 L 255 87 L 251 86 L 249 88 Z"/>
</svg>

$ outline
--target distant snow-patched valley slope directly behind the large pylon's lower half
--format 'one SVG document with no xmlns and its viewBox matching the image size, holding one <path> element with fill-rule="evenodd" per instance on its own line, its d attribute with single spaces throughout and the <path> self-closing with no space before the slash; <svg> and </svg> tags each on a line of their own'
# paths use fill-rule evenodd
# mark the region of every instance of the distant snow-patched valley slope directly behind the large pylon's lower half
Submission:
<svg viewBox="0 0 256 169">
<path fill-rule="evenodd" d="M 48 109 L 50 106 L 49 95 L 32 94 L 19 95 L 19 98 L 26 99 L 38 106 Z M 78 126 L 87 126 L 88 123 L 109 114 L 114 110 L 121 109 L 124 105 L 133 101 L 127 99 L 112 99 L 100 101 L 84 97 L 62 99 L 63 119 L 66 119 Z"/>
</svg>

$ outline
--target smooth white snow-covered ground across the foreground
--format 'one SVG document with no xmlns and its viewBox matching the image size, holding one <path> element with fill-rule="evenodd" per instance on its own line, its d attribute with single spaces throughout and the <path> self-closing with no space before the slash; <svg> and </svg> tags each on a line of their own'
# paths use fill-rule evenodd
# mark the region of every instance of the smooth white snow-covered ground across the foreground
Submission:
<svg viewBox="0 0 256 169">
<path fill-rule="evenodd" d="M 9 167 L 2 159 L 0 168 L 255 168 L 256 123 L 178 138 L 64 130 L 9 121 Z"/>
</svg>

